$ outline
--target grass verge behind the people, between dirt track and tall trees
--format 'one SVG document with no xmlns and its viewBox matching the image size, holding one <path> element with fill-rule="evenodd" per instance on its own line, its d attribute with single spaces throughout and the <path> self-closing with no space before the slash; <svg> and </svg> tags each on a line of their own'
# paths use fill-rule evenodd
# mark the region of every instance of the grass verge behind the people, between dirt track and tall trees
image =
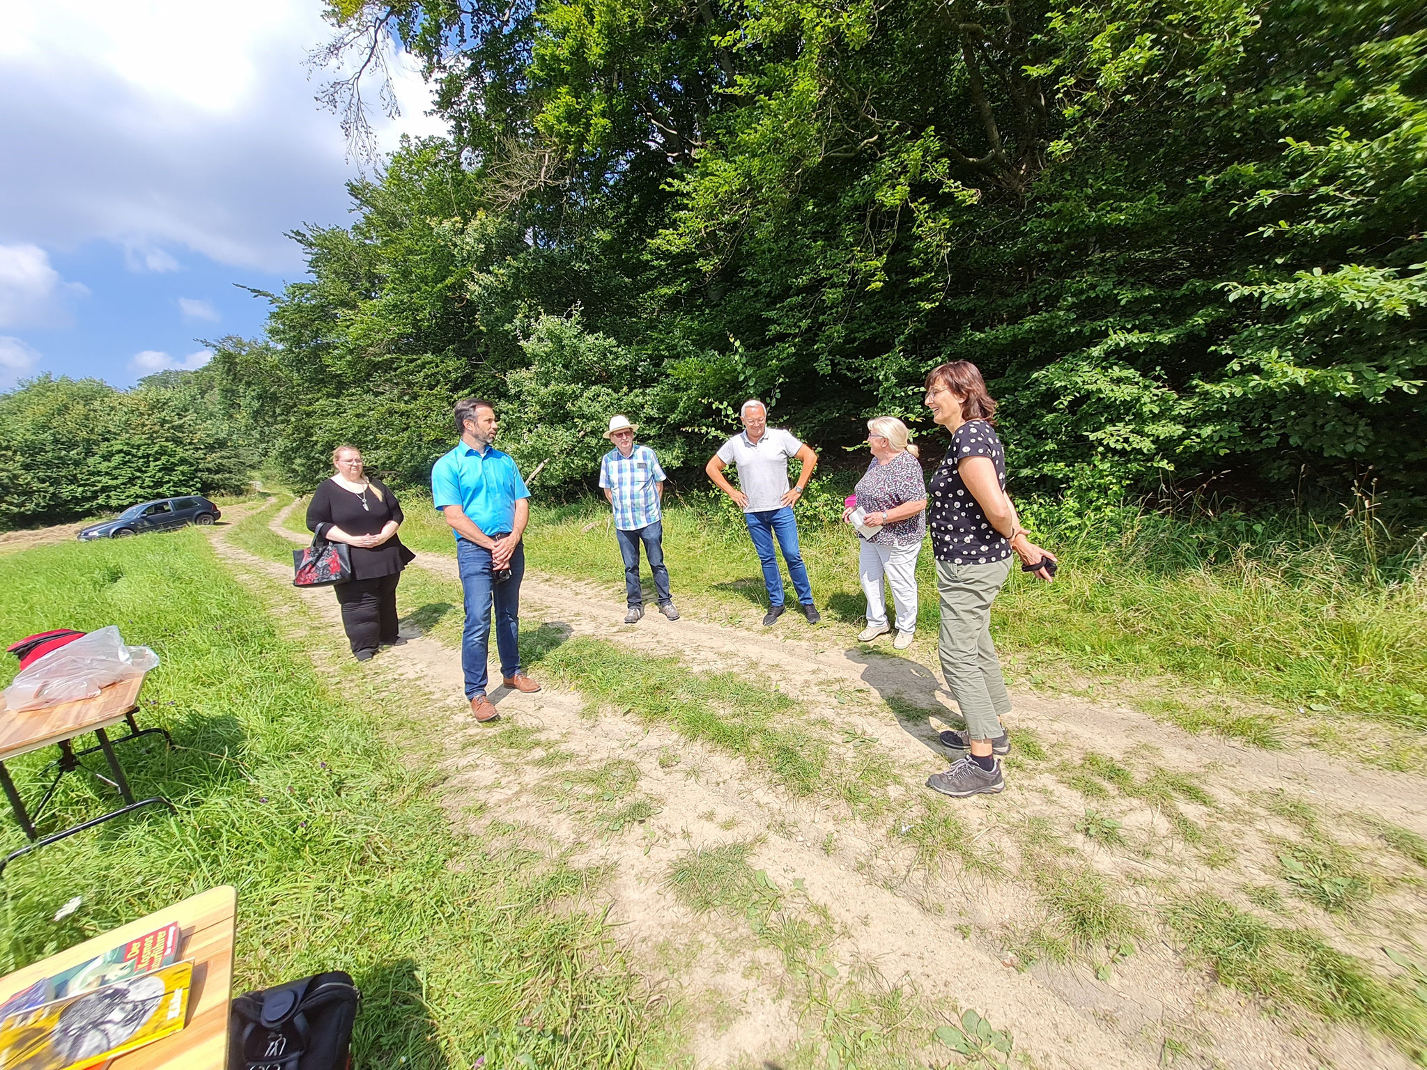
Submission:
<svg viewBox="0 0 1427 1070">
<path fill-rule="evenodd" d="M 1326 526 L 1297 515 L 1259 522 L 1117 511 L 1087 522 L 1059 509 L 1026 512 L 1062 569 L 1053 585 L 1013 569 L 996 601 L 992 629 L 1016 683 L 1129 696 L 1184 728 L 1260 746 L 1284 732 L 1326 746 L 1341 745 L 1343 733 L 1387 732 L 1390 745 L 1354 749 L 1387 768 L 1427 762 L 1413 743 L 1427 729 L 1423 539 L 1374 545 L 1351 518 Z M 664 524 L 675 599 L 755 622 L 766 595 L 739 518 L 691 498 L 671 501 Z M 450 529 L 417 496 L 402 538 L 451 552 Z M 802 552 L 826 626 L 860 628 L 855 539 L 805 518 Z M 537 505 L 527 559 L 544 572 L 622 581 L 608 509 L 594 499 Z M 918 579 L 930 655 L 938 601 L 926 549 Z"/>
</svg>

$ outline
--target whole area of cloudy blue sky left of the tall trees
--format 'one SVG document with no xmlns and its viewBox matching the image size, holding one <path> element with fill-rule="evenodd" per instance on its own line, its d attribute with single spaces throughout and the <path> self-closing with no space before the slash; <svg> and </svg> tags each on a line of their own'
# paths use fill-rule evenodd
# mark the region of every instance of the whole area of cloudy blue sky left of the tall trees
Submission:
<svg viewBox="0 0 1427 1070">
<path fill-rule="evenodd" d="M 128 385 L 261 330 L 303 274 L 284 231 L 340 224 L 358 174 L 305 64 L 321 0 L 0 0 L 0 389 L 40 372 Z M 392 57 L 381 144 L 441 133 Z"/>
</svg>

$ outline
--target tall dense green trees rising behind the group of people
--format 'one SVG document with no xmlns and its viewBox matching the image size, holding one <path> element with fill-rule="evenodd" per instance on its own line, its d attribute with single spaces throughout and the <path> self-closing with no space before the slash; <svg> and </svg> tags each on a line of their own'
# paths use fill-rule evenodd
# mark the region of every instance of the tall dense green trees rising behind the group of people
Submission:
<svg viewBox="0 0 1427 1070">
<path fill-rule="evenodd" d="M 822 445 L 982 367 L 1019 486 L 1427 502 L 1427 14 L 1401 0 L 337 0 L 447 138 L 294 233 L 214 358 L 294 477 L 422 481 L 450 404 L 588 478 L 761 395 Z M 367 50 L 367 51 L 362 51 Z M 368 67 L 365 77 L 372 77 Z M 360 83 L 330 101 L 361 128 Z M 370 87 L 368 87 L 370 96 Z M 925 427 L 925 422 L 923 422 Z"/>
</svg>

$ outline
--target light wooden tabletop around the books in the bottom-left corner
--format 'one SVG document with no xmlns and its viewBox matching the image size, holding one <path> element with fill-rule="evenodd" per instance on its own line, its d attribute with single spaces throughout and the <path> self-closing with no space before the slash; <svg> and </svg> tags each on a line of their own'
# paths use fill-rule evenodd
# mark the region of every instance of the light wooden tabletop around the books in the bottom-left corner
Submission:
<svg viewBox="0 0 1427 1070">
<path fill-rule="evenodd" d="M 107 1070 L 224 1070 L 228 1060 L 228 1000 L 233 997 L 237 906 L 238 892 L 231 885 L 200 892 L 148 917 L 140 917 L 0 977 L 0 1003 L 41 977 L 78 966 L 86 959 L 177 922 L 183 934 L 178 960 L 194 960 L 188 1024 L 163 1040 L 110 1060 Z"/>
</svg>

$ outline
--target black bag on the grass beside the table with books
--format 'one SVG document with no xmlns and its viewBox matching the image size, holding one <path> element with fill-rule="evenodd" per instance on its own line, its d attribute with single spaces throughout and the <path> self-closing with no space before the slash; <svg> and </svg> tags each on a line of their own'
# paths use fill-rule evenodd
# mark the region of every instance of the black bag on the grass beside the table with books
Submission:
<svg viewBox="0 0 1427 1070">
<path fill-rule="evenodd" d="M 233 1000 L 228 1070 L 347 1070 L 361 993 L 341 970 Z"/>
</svg>

